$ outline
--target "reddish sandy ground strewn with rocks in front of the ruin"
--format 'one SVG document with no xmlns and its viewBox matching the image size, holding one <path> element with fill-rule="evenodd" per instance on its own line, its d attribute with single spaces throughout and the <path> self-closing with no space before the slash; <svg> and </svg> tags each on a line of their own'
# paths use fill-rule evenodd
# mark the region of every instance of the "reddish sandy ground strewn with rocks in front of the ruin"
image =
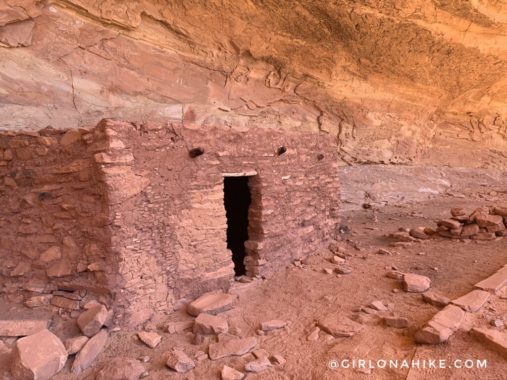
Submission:
<svg viewBox="0 0 507 380">
<path fill-rule="evenodd" d="M 257 348 L 271 354 L 280 354 L 286 359 L 283 366 L 273 366 L 259 373 L 247 372 L 246 379 L 288 380 L 288 379 L 507 379 L 507 361 L 495 351 L 479 343 L 468 330 L 473 326 L 489 326 L 491 316 L 504 319 L 507 300 L 507 288 L 499 294 L 491 295 L 485 306 L 475 314 L 467 313 L 460 329 L 444 344 L 436 346 L 420 345 L 412 337 L 404 336 L 403 330 L 379 325 L 366 327 L 352 337 L 327 340 L 324 334 L 318 340 L 307 341 L 309 329 L 320 317 L 339 312 L 349 318 L 358 314 L 352 312 L 357 307 L 368 306 L 374 300 L 391 305 L 394 315 L 407 318 L 411 323 L 422 325 L 440 309 L 422 301 L 417 293 L 406 293 L 402 284 L 384 276 L 388 265 L 394 265 L 400 271 L 427 276 L 431 279 L 433 292 L 448 298 L 456 298 L 472 290 L 474 284 L 492 275 L 507 263 L 507 239 L 489 242 L 461 243 L 451 239 L 428 240 L 414 243 L 406 248 L 389 247 L 390 239 L 384 234 L 396 231 L 399 227 L 434 227 L 434 219 L 449 216 L 452 206 L 464 206 L 468 212 L 475 207 L 505 204 L 507 196 L 491 202 L 479 199 L 436 198 L 425 204 L 388 206 L 376 211 L 349 211 L 342 214 L 342 224 L 349 225 L 353 233 L 342 235 L 340 244 L 350 257 L 346 266 L 352 273 L 338 278 L 336 274 L 324 274 L 322 268 L 334 268 L 337 265 L 327 261 L 330 252 L 315 254 L 308 258 L 305 269 L 289 267 L 273 278 L 259 283 L 248 291 L 240 293 L 234 302 L 234 308 L 222 314 L 230 327 L 241 330 L 241 337 L 257 336 Z M 417 211 L 424 217 L 411 216 Z M 378 221 L 373 221 L 373 215 Z M 378 230 L 370 230 L 371 227 Z M 377 254 L 378 248 L 385 248 L 392 255 Z M 425 255 L 418 255 L 425 252 Z M 420 265 L 420 266 L 419 266 Z M 416 269 L 422 268 L 422 269 Z M 438 268 L 438 270 L 434 269 Z M 393 293 L 393 289 L 399 289 Z M 326 298 L 324 298 L 326 297 Z M 331 297 L 331 298 L 330 298 Z M 37 311 L 17 308 L 8 311 L 12 305 L 0 308 L 0 318 L 42 317 Z M 40 314 L 40 313 L 39 313 Z M 54 377 L 63 379 L 88 379 L 111 358 L 125 356 L 137 358 L 149 355 L 151 360 L 145 364 L 150 371 L 147 379 L 220 379 L 220 370 L 228 365 L 244 372 L 244 364 L 253 360 L 251 354 L 243 357 L 230 357 L 216 361 L 205 359 L 196 361 L 196 368 L 185 374 L 177 374 L 165 366 L 167 352 L 172 348 L 184 350 L 190 357 L 198 350 L 207 352 L 214 336 L 205 338 L 203 344 L 192 345 L 190 330 L 176 334 L 164 333 L 161 325 L 165 321 L 190 320 L 185 309 L 170 315 L 158 316 L 151 326 L 163 336 L 155 349 L 150 349 L 135 336 L 135 333 L 116 332 L 102 350 L 93 365 L 79 376 L 71 376 L 69 368 L 73 359 L 67 360 L 65 368 Z M 256 335 L 260 323 L 270 319 L 282 319 L 287 322 L 284 329 L 272 331 L 265 336 Z M 53 332 L 60 338 L 80 335 L 74 320 L 61 321 L 55 318 Z M 503 329 L 503 327 L 501 328 Z M 398 360 L 420 359 L 421 368 L 374 368 L 371 374 L 356 369 L 335 369 L 328 367 L 331 360 L 366 359 L 376 362 L 379 359 Z M 487 368 L 472 369 L 428 369 L 422 368 L 423 359 L 446 359 L 446 365 L 452 365 L 455 359 L 487 360 Z M 10 378 L 8 362 L 0 362 L 0 376 Z"/>
</svg>

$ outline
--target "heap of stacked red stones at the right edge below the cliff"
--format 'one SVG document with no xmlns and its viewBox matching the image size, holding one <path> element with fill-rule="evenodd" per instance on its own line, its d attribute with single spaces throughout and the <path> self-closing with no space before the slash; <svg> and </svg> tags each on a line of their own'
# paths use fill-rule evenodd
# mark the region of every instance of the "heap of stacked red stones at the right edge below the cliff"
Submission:
<svg viewBox="0 0 507 380">
<path fill-rule="evenodd" d="M 507 206 L 476 208 L 467 215 L 463 207 L 453 207 L 452 217 L 437 221 L 437 233 L 451 239 L 492 240 L 507 236 Z"/>
</svg>

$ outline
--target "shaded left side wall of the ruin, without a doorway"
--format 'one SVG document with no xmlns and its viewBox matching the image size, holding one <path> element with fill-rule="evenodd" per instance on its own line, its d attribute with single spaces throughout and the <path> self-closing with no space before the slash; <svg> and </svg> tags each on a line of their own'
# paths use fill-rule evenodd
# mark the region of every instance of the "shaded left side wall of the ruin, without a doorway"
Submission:
<svg viewBox="0 0 507 380">
<path fill-rule="evenodd" d="M 93 128 L 0 134 L 0 289 L 8 300 L 81 290 L 110 303 L 118 264 L 107 256 L 111 223 L 87 146 Z M 50 303 L 51 302 L 51 303 Z"/>
</svg>

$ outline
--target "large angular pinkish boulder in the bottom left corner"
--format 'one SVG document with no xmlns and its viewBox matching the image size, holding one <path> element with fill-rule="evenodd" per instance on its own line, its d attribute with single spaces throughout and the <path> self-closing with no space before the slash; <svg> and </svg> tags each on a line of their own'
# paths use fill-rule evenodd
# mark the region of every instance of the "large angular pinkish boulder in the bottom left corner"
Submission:
<svg viewBox="0 0 507 380">
<path fill-rule="evenodd" d="M 17 340 L 11 372 L 18 380 L 48 380 L 63 368 L 67 356 L 61 340 L 43 330 Z"/>
</svg>

